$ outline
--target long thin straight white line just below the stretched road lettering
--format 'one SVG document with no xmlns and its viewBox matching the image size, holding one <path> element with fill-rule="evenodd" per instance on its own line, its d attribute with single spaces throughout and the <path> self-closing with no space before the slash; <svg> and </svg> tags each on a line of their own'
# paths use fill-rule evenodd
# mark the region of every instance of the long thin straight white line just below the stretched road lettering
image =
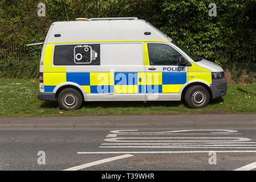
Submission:
<svg viewBox="0 0 256 182">
<path fill-rule="evenodd" d="M 220 153 L 234 153 L 234 152 L 256 152 L 256 150 L 226 150 L 215 151 Z M 209 151 L 119 151 L 119 152 L 78 152 L 78 154 L 180 154 L 180 153 L 209 153 Z"/>
</svg>

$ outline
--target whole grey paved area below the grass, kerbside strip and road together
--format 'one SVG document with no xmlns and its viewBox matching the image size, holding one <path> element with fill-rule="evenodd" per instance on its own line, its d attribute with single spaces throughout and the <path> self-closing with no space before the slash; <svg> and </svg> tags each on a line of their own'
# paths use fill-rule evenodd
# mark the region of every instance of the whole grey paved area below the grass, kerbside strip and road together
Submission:
<svg viewBox="0 0 256 182">
<path fill-rule="evenodd" d="M 0 118 L 0 170 L 255 170 L 255 123 L 252 114 Z"/>
</svg>

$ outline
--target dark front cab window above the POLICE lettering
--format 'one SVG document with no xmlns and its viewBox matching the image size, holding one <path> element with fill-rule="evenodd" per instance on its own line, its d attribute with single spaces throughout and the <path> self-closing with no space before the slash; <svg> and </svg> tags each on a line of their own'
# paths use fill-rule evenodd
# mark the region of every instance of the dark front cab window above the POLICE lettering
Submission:
<svg viewBox="0 0 256 182">
<path fill-rule="evenodd" d="M 148 44 L 150 65 L 178 65 L 179 57 L 182 57 L 172 47 L 166 44 Z"/>
</svg>

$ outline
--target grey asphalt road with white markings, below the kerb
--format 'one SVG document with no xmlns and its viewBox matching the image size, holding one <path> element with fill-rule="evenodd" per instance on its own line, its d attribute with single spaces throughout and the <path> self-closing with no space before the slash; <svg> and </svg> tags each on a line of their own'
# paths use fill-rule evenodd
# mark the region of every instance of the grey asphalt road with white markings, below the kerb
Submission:
<svg viewBox="0 0 256 182">
<path fill-rule="evenodd" d="M 234 170 L 256 162 L 255 133 L 221 128 L 1 130 L 0 169 Z M 45 152 L 45 164 L 38 164 L 39 151 Z"/>
</svg>

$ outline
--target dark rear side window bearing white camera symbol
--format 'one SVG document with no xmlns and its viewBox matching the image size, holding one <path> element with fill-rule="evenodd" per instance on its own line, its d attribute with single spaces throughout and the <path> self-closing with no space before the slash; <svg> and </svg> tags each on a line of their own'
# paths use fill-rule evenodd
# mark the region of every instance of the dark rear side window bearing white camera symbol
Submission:
<svg viewBox="0 0 256 182">
<path fill-rule="evenodd" d="M 54 65 L 100 65 L 100 44 L 55 46 Z"/>
</svg>

